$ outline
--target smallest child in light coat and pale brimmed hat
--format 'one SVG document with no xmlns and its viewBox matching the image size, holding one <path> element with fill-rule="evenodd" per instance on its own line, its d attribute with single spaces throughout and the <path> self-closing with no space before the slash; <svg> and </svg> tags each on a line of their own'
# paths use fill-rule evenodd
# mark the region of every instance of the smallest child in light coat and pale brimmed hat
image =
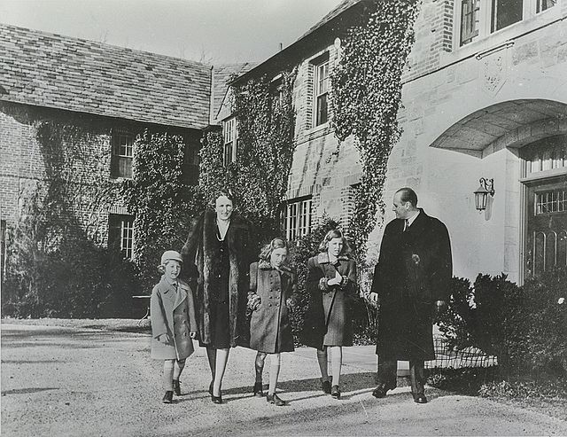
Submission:
<svg viewBox="0 0 567 437">
<path fill-rule="evenodd" d="M 181 395 L 179 377 L 185 360 L 193 353 L 192 339 L 197 335 L 193 293 L 178 278 L 181 264 L 181 255 L 173 250 L 161 255 L 159 270 L 163 276 L 151 291 L 151 357 L 164 360 L 164 403 L 173 402 L 174 391 Z"/>
</svg>

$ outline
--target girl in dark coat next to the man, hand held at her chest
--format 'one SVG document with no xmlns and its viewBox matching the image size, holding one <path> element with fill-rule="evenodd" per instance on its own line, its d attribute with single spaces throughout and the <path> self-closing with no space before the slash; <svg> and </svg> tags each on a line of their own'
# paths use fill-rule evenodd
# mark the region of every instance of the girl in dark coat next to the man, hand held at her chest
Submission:
<svg viewBox="0 0 567 437">
<path fill-rule="evenodd" d="M 348 303 L 357 291 L 356 264 L 349 258 L 351 249 L 340 230 L 327 232 L 319 251 L 320 254 L 307 261 L 309 306 L 303 341 L 317 349 L 323 392 L 339 399 L 342 347 L 353 346 L 353 321 Z M 328 349 L 332 387 L 327 364 Z"/>
</svg>

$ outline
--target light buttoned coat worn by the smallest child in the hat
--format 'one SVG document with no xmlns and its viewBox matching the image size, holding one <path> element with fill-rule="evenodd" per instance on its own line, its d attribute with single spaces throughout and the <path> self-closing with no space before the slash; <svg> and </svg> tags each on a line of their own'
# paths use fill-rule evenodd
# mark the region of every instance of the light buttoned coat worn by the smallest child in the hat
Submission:
<svg viewBox="0 0 567 437">
<path fill-rule="evenodd" d="M 170 285 L 165 277 L 151 291 L 151 358 L 158 360 L 184 360 L 193 351 L 190 332 L 197 332 L 197 317 L 193 293 L 189 285 L 181 280 Z M 162 334 L 168 334 L 170 344 L 158 341 Z"/>
</svg>

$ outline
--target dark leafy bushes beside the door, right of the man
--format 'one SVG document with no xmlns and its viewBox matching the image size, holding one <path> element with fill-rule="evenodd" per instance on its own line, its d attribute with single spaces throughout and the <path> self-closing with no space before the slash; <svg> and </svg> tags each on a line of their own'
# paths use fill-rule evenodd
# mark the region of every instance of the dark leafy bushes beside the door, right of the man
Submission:
<svg viewBox="0 0 567 437">
<path fill-rule="evenodd" d="M 454 278 L 439 330 L 454 347 L 498 357 L 506 376 L 567 375 L 567 269 L 518 286 L 506 275 Z"/>
</svg>

